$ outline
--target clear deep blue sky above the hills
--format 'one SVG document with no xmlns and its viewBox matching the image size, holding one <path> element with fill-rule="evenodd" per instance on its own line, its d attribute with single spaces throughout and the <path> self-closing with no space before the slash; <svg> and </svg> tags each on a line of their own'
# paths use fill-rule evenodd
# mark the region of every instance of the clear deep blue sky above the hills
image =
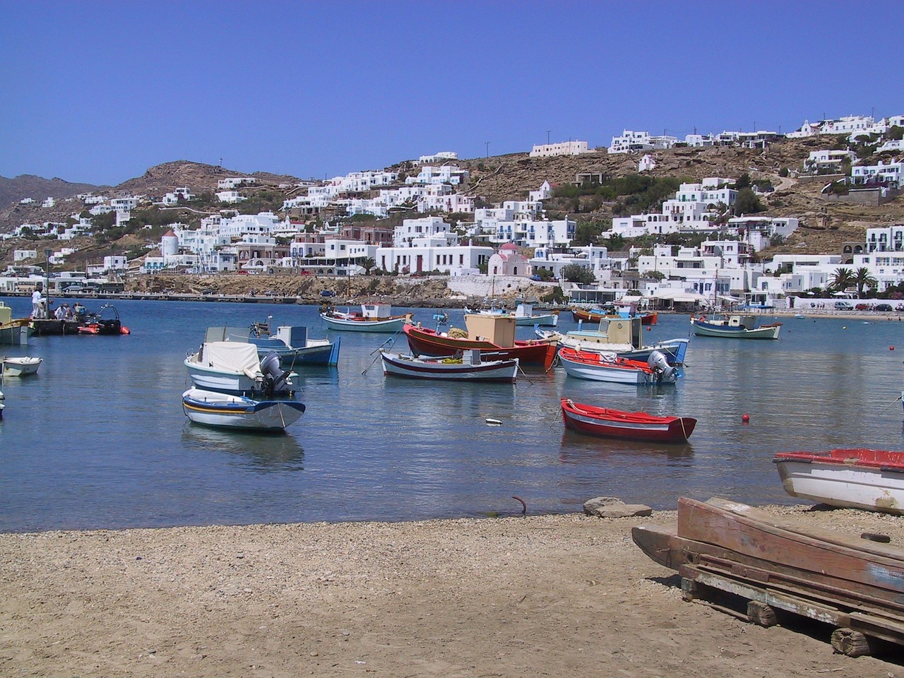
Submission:
<svg viewBox="0 0 904 678">
<path fill-rule="evenodd" d="M 904 113 L 904 4 L 0 2 L 0 175 L 325 177 Z"/>
</svg>

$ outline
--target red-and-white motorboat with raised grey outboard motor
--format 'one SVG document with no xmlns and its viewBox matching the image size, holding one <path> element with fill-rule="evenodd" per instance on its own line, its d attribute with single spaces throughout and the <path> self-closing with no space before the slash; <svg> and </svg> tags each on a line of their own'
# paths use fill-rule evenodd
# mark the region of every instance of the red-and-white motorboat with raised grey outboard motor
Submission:
<svg viewBox="0 0 904 678">
<path fill-rule="evenodd" d="M 649 360 L 619 358 L 615 353 L 576 351 L 565 346 L 559 350 L 559 362 L 571 377 L 612 383 L 663 384 L 678 379 L 678 368 L 670 365 L 662 353 L 650 353 Z"/>
</svg>

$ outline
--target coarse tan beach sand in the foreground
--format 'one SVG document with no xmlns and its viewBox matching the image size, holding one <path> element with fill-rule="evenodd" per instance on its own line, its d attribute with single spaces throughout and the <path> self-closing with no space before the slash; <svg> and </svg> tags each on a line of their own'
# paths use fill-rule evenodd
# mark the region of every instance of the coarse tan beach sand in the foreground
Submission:
<svg viewBox="0 0 904 678">
<path fill-rule="evenodd" d="M 904 542 L 904 519 L 769 507 Z M 3 676 L 904 676 L 684 602 L 646 518 L 0 534 Z M 897 654 L 894 654 L 897 653 Z"/>
</svg>

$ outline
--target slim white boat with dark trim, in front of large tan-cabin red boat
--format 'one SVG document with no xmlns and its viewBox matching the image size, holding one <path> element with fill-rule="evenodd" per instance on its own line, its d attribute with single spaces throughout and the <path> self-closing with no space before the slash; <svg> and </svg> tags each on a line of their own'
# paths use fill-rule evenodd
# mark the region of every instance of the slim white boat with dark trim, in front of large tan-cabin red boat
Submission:
<svg viewBox="0 0 904 678">
<path fill-rule="evenodd" d="M 383 374 L 412 379 L 447 381 L 515 381 L 518 359 L 484 361 L 476 349 L 460 358 L 421 358 L 416 355 L 381 352 Z"/>
</svg>

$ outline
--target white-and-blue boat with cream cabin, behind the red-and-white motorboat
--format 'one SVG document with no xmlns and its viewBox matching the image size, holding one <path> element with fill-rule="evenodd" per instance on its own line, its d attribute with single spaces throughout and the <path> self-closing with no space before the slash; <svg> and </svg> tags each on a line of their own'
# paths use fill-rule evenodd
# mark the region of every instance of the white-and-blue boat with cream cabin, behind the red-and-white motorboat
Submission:
<svg viewBox="0 0 904 678">
<path fill-rule="evenodd" d="M 642 344 L 640 318 L 603 318 L 595 329 L 584 329 L 580 326 L 566 334 L 554 330 L 537 329 L 541 339 L 555 339 L 560 346 L 568 346 L 578 351 L 616 353 L 621 358 L 645 361 L 650 353 L 663 353 L 670 365 L 684 363 L 687 353 L 688 339 L 669 339 L 656 344 Z"/>
</svg>

